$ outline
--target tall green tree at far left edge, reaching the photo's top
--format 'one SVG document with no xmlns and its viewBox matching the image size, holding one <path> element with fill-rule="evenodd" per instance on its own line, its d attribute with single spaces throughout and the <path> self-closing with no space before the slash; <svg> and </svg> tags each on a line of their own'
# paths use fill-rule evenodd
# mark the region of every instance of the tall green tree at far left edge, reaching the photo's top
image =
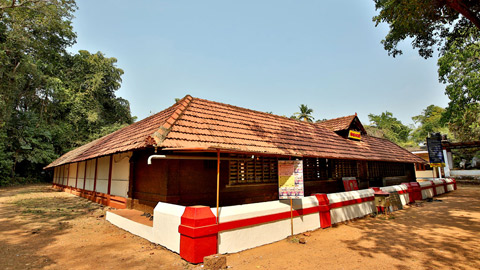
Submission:
<svg viewBox="0 0 480 270">
<path fill-rule="evenodd" d="M 56 156 L 49 141 L 51 119 L 44 112 L 58 86 L 58 59 L 75 42 L 71 26 L 75 9 L 72 0 L 0 4 L 2 183 L 17 172 L 28 174 L 24 168 L 41 167 Z"/>
</svg>

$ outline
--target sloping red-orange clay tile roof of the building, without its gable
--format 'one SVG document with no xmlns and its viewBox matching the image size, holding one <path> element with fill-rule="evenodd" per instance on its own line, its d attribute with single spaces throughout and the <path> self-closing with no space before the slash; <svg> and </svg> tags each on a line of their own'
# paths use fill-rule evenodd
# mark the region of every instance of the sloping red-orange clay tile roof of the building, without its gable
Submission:
<svg viewBox="0 0 480 270">
<path fill-rule="evenodd" d="M 298 157 L 423 162 L 398 145 L 365 135 L 344 139 L 322 125 L 186 96 L 172 107 L 79 147 L 46 168 L 156 145 Z"/>
</svg>

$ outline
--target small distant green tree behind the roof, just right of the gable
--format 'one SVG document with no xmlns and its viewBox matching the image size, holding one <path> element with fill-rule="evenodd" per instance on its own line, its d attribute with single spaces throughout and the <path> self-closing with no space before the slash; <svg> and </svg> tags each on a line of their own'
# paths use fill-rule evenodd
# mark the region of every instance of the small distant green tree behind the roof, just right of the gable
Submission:
<svg viewBox="0 0 480 270">
<path fill-rule="evenodd" d="M 371 123 L 371 126 L 367 128 L 369 134 L 383 137 L 397 144 L 405 145 L 408 142 L 411 128 L 393 117 L 391 112 L 383 112 L 380 115 L 369 114 L 368 119 Z M 372 130 L 372 128 L 376 130 Z"/>
</svg>

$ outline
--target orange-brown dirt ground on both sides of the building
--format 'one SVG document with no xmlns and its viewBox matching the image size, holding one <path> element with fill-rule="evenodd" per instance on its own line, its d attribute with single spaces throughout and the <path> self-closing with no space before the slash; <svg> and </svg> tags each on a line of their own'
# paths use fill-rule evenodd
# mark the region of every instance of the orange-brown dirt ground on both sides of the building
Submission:
<svg viewBox="0 0 480 270">
<path fill-rule="evenodd" d="M 480 186 L 227 255 L 230 269 L 480 269 Z M 0 188 L 0 269 L 203 269 L 49 185 Z"/>
</svg>

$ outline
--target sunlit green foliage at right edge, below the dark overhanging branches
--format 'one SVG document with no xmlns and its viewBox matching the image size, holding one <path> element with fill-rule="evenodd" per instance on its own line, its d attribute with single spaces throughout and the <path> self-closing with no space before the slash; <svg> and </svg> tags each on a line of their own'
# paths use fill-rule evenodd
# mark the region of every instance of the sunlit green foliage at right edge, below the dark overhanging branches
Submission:
<svg viewBox="0 0 480 270">
<path fill-rule="evenodd" d="M 447 84 L 450 102 L 444 119 L 455 137 L 463 141 L 480 138 L 480 40 L 453 42 L 438 60 L 440 81 Z"/>
</svg>

